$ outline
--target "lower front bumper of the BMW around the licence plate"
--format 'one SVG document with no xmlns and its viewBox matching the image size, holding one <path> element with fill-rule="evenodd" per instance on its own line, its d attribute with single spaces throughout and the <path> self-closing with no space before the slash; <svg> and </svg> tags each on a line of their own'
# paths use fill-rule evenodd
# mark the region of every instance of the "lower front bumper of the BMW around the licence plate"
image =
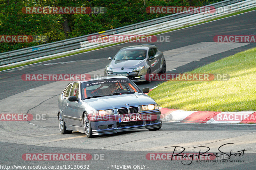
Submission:
<svg viewBox="0 0 256 170">
<path fill-rule="evenodd" d="M 162 126 L 161 112 L 159 110 L 132 115 L 141 115 L 142 120 L 119 123 L 118 118 L 116 119 L 114 117 L 109 117 L 109 120 L 105 121 L 91 121 L 92 134 L 112 134 L 121 131 L 137 130 L 144 128 L 153 129 Z M 102 127 L 106 129 L 102 129 Z"/>
</svg>

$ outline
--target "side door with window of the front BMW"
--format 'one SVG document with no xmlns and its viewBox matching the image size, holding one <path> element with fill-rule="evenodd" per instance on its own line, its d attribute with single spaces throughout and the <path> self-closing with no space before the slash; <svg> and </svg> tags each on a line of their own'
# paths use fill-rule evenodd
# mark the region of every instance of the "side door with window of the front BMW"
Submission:
<svg viewBox="0 0 256 170">
<path fill-rule="evenodd" d="M 80 100 L 79 98 L 79 83 L 74 82 L 69 96 L 76 96 L 76 98 L 78 100 Z M 70 123 L 70 125 L 73 126 L 81 126 L 80 123 L 80 119 L 81 117 L 79 117 L 79 101 L 77 102 L 69 102 L 67 101 L 67 112 L 68 112 L 68 121 Z"/>
</svg>

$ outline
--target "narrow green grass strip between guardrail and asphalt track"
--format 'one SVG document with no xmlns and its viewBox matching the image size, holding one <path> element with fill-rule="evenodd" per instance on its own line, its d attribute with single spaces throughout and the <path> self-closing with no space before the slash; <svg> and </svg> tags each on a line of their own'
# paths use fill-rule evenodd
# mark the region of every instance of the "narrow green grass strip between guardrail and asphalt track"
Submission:
<svg viewBox="0 0 256 170">
<path fill-rule="evenodd" d="M 221 19 L 221 18 L 230 17 L 230 16 L 233 16 L 233 15 L 237 15 L 237 14 L 241 14 L 241 13 L 249 12 L 249 11 L 253 11 L 253 10 L 256 10 L 256 7 L 251 8 L 251 9 L 248 9 L 248 10 L 243 10 L 243 11 L 235 12 L 235 13 L 233 13 L 233 14 L 228 14 L 228 15 L 225 15 L 225 16 L 222 16 L 222 17 L 210 19 L 210 20 L 208 20 L 208 21 L 203 21 L 203 22 L 200 22 L 200 23 L 197 23 L 197 24 L 186 25 L 186 26 L 183 26 L 183 27 L 180 27 L 180 28 L 175 28 L 175 29 L 170 29 L 170 30 L 167 30 L 167 31 L 157 32 L 157 33 L 150 34 L 150 35 L 157 35 L 157 34 L 164 33 L 164 32 L 170 32 L 170 31 L 174 31 L 174 30 L 181 29 L 181 28 L 186 28 L 186 27 L 189 27 L 189 26 L 202 24 L 202 23 L 205 23 L 205 22 L 210 22 L 210 21 L 213 21 L 213 20 L 217 20 L 217 19 Z M 66 56 L 74 55 L 74 54 L 84 53 L 84 52 L 87 52 L 87 51 L 92 51 L 92 50 L 96 50 L 96 49 L 100 49 L 100 48 L 104 48 L 104 47 L 108 47 L 108 46 L 114 46 L 114 45 L 116 45 L 116 44 L 121 44 L 121 43 L 122 43 L 122 42 L 120 42 L 120 43 L 115 43 L 115 44 L 110 44 L 110 45 L 106 45 L 106 46 L 100 46 L 100 47 L 97 47 L 97 48 L 88 49 L 88 50 L 83 50 L 83 51 L 79 51 L 79 52 L 76 52 L 76 53 L 70 53 L 70 54 L 61 55 L 61 56 L 58 56 L 58 57 L 52 57 L 52 58 L 45 58 L 45 59 L 30 61 L 30 62 L 26 62 L 26 63 L 23 63 L 23 64 L 14 65 L 14 66 L 9 66 L 9 67 L 0 67 L 0 71 L 2 71 L 2 70 L 7 70 L 7 69 L 11 69 L 11 68 L 16 68 L 16 67 L 20 67 L 20 66 L 25 66 L 25 65 L 29 65 L 29 64 L 34 64 L 34 63 L 38 63 L 38 62 L 42 62 L 42 61 L 53 60 L 53 59 L 57 59 L 57 58 L 61 58 L 61 57 L 66 57 Z"/>
</svg>

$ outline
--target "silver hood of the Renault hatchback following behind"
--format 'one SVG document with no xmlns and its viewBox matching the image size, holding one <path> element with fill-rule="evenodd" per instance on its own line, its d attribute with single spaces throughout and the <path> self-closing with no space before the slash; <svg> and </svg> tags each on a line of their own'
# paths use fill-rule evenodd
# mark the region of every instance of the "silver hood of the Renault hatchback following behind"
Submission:
<svg viewBox="0 0 256 170">
<path fill-rule="evenodd" d="M 109 67 L 114 69 L 130 69 L 142 66 L 145 60 L 112 60 Z"/>
</svg>

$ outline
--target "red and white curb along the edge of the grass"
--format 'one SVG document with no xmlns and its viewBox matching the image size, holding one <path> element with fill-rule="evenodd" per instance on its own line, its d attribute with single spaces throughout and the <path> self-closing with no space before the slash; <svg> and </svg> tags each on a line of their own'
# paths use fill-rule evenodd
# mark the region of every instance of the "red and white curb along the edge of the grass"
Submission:
<svg viewBox="0 0 256 170">
<path fill-rule="evenodd" d="M 156 86 L 157 87 L 157 86 Z M 149 91 L 155 89 L 150 89 Z M 148 94 L 148 93 L 147 93 Z M 167 109 L 159 107 L 162 121 L 181 122 L 181 123 L 213 123 L 213 124 L 237 124 L 237 123 L 255 123 L 255 111 L 185 111 L 176 109 Z"/>
</svg>

